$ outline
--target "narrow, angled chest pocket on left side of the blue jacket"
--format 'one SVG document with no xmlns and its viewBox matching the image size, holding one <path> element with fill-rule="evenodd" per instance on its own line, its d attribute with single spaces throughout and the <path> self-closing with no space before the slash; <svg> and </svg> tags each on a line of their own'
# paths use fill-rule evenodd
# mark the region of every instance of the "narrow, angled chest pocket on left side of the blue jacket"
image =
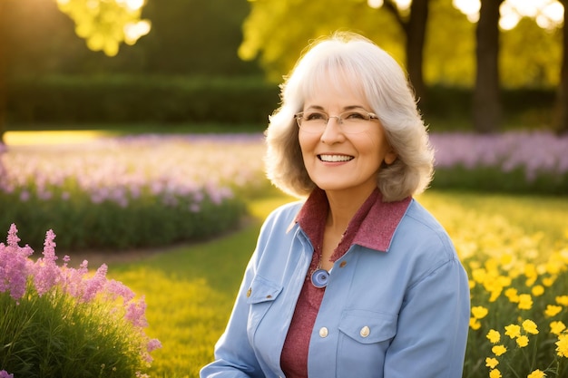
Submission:
<svg viewBox="0 0 568 378">
<path fill-rule="evenodd" d="M 249 334 L 250 342 L 252 342 L 252 338 L 259 328 L 260 321 L 269 311 L 270 306 L 281 291 L 282 286 L 262 276 L 255 276 L 252 279 L 246 294 L 247 304 L 250 305 L 247 322 L 247 333 Z"/>
</svg>

